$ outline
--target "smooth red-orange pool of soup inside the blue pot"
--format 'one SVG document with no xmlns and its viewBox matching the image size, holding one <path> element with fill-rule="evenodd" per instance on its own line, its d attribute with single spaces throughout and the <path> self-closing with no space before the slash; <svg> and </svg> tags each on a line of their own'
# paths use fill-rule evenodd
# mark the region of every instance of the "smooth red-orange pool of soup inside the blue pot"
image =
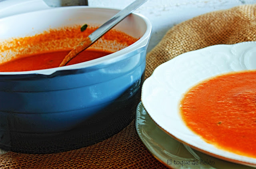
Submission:
<svg viewBox="0 0 256 169">
<path fill-rule="evenodd" d="M 16 59 L 0 64 L 0 72 L 18 72 L 56 68 L 60 65 L 62 60 L 69 52 L 69 50 L 62 50 L 56 52 L 20 56 Z M 78 54 L 78 56 L 70 60 L 67 65 L 93 60 L 108 54 L 111 54 L 111 52 L 84 50 Z"/>
</svg>

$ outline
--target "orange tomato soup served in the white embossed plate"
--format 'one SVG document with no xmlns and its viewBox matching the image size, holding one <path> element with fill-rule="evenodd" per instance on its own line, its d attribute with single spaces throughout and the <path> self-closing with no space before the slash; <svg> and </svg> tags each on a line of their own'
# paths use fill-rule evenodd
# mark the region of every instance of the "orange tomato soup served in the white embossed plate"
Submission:
<svg viewBox="0 0 256 169">
<path fill-rule="evenodd" d="M 206 142 L 256 157 L 256 71 L 225 74 L 192 87 L 180 102 L 180 113 Z"/>
</svg>

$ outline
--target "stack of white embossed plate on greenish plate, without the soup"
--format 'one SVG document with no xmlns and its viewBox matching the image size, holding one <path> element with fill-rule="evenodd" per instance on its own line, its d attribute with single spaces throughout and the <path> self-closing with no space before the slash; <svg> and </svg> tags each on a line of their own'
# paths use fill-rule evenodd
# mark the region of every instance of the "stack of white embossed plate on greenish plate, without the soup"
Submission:
<svg viewBox="0 0 256 169">
<path fill-rule="evenodd" d="M 179 113 L 182 95 L 198 82 L 219 74 L 255 69 L 256 42 L 210 46 L 158 66 L 142 86 L 142 103 L 137 107 L 136 118 L 140 139 L 158 160 L 174 169 L 256 167 L 256 158 L 204 141 L 185 125 Z"/>
</svg>

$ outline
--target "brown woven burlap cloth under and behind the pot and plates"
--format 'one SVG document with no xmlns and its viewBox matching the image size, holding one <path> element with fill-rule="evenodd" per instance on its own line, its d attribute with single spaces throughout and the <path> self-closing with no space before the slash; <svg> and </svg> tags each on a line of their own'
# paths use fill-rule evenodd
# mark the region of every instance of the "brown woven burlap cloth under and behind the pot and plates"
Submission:
<svg viewBox="0 0 256 169">
<path fill-rule="evenodd" d="M 256 5 L 243 5 L 203 14 L 174 26 L 148 53 L 146 78 L 158 65 L 184 52 L 216 44 L 255 41 L 255 14 Z M 0 156 L 0 168 L 164 169 L 166 167 L 158 162 L 140 141 L 132 121 L 120 133 L 89 147 L 40 155 L 8 152 Z"/>
</svg>

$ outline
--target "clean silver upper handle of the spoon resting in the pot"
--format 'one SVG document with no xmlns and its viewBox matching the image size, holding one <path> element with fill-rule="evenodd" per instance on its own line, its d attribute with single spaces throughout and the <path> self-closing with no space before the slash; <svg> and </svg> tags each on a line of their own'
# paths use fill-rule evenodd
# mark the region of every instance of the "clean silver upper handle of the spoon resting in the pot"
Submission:
<svg viewBox="0 0 256 169">
<path fill-rule="evenodd" d="M 92 34 L 88 36 L 91 42 L 94 43 L 96 40 L 98 40 L 100 37 L 106 34 L 106 32 L 108 32 L 110 29 L 116 26 L 116 24 L 122 21 L 126 16 L 128 16 L 132 11 L 137 9 L 146 1 L 147 0 L 135 0 L 132 4 L 118 12 L 116 15 L 110 18 L 110 20 L 105 22 L 102 26 L 100 26 L 98 29 L 96 29 L 94 32 L 92 32 Z"/>
</svg>

